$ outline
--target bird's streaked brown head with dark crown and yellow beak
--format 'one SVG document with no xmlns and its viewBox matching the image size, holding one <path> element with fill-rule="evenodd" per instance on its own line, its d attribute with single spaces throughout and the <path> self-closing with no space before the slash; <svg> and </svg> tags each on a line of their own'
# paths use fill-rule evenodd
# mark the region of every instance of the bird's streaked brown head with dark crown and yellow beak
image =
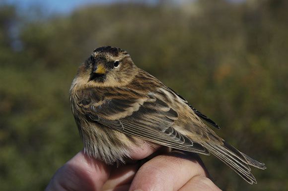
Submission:
<svg viewBox="0 0 288 191">
<path fill-rule="evenodd" d="M 96 48 L 80 66 L 77 75 L 97 87 L 115 87 L 131 82 L 137 71 L 127 51 L 108 46 Z"/>
</svg>

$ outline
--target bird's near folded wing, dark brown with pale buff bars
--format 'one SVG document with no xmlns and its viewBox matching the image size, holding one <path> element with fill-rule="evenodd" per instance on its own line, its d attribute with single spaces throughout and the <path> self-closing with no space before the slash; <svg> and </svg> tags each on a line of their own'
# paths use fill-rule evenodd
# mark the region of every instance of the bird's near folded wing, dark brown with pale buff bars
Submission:
<svg viewBox="0 0 288 191">
<path fill-rule="evenodd" d="M 76 96 L 79 109 L 91 122 L 165 146 L 209 154 L 173 128 L 178 113 L 164 101 L 131 91 L 99 91 L 85 89 Z"/>
</svg>

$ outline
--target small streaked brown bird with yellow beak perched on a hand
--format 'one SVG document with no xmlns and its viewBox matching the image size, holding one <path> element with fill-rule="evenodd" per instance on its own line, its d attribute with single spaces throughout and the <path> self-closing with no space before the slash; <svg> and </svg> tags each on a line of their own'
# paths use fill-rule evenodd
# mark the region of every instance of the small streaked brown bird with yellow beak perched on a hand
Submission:
<svg viewBox="0 0 288 191">
<path fill-rule="evenodd" d="M 217 136 L 202 120 L 219 129 L 214 121 L 120 48 L 92 52 L 72 82 L 70 102 L 85 153 L 106 164 L 124 162 L 131 145 L 146 142 L 212 153 L 250 184 L 257 182 L 248 165 L 266 169 Z"/>
</svg>

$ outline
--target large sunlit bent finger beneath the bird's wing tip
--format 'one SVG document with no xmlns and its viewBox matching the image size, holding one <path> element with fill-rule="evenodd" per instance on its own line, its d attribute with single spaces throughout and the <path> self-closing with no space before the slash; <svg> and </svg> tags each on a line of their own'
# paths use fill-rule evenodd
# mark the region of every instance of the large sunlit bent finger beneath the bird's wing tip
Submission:
<svg viewBox="0 0 288 191">
<path fill-rule="evenodd" d="M 130 191 L 178 191 L 195 176 L 208 176 L 200 157 L 175 150 L 146 162 L 133 179 Z"/>
</svg>

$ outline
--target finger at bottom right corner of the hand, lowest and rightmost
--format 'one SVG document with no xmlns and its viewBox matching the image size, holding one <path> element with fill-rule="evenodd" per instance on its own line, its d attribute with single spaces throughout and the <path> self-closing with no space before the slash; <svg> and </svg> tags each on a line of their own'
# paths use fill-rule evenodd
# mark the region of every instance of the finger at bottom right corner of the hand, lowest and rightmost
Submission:
<svg viewBox="0 0 288 191">
<path fill-rule="evenodd" d="M 209 178 L 195 176 L 179 191 L 221 191 Z"/>
</svg>

